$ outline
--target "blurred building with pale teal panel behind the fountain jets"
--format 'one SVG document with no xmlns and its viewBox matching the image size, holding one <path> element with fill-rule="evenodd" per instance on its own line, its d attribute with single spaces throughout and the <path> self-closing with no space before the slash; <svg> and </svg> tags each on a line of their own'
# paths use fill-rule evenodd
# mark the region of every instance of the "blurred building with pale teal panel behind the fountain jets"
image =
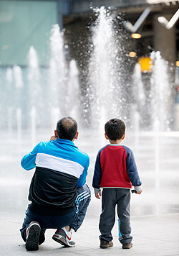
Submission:
<svg viewBox="0 0 179 256">
<path fill-rule="evenodd" d="M 27 123 L 28 119 L 26 119 L 25 113 L 30 111 L 28 102 L 32 101 L 28 95 L 30 91 L 36 91 L 36 89 L 27 89 L 27 87 L 28 84 L 30 88 L 31 83 L 39 83 L 37 77 L 29 82 L 29 65 L 31 65 L 29 64 L 29 49 L 32 46 L 37 52 L 38 72 L 39 76 L 42 76 L 40 83 L 44 87 L 42 87 L 43 93 L 39 97 L 34 96 L 34 94 L 31 97 L 36 102 L 41 101 L 39 109 L 44 109 L 47 106 L 48 103 L 44 102 L 44 99 L 47 99 L 49 94 L 50 82 L 47 78 L 47 70 L 52 55 L 49 39 L 52 36 L 53 24 L 59 24 L 61 31 L 63 30 L 64 33 L 66 68 L 69 68 L 72 59 L 76 60 L 79 70 L 79 90 L 82 96 L 80 108 L 83 108 L 84 98 L 89 86 L 92 33 L 97 19 L 97 14 L 93 9 L 100 6 L 108 8 L 109 5 L 110 16 L 114 19 L 115 30 L 119 32 L 118 37 L 122 42 L 120 56 L 122 56 L 122 70 L 125 76 L 121 83 L 127 84 L 127 101 L 131 101 L 130 88 L 135 64 L 139 60 L 140 63 L 146 60 L 143 58 L 150 57 L 151 52 L 160 51 L 161 56 L 168 61 L 170 86 L 172 88 L 170 122 L 173 128 L 174 125 L 178 127 L 179 20 L 176 19 L 171 27 L 167 26 L 178 11 L 179 3 L 170 0 L 96 0 L 92 3 L 86 0 L 0 1 L 1 126 L 8 122 L 6 112 L 8 112 L 9 106 L 11 106 L 9 119 L 11 119 L 11 116 L 15 116 L 13 113 L 15 113 L 15 109 L 19 108 L 22 109 L 21 114 L 24 116 L 22 123 L 24 125 Z M 158 19 L 159 17 L 160 19 Z M 132 38 L 132 32 L 140 34 L 142 37 Z M 21 68 L 21 71 L 18 71 L 16 67 Z M 34 65 L 34 67 L 37 66 Z M 18 72 L 21 74 L 19 75 Z M 150 73 L 150 68 L 145 68 L 142 73 L 145 88 L 147 88 Z M 21 92 L 18 89 L 20 87 Z M 37 87 L 34 86 L 34 88 Z M 35 101 L 32 105 L 35 104 Z M 86 101 L 85 105 L 87 105 Z M 39 114 L 40 117 L 41 114 Z M 89 119 L 89 112 L 87 115 L 84 114 L 84 118 Z M 42 123 L 39 122 L 39 125 Z"/>
</svg>

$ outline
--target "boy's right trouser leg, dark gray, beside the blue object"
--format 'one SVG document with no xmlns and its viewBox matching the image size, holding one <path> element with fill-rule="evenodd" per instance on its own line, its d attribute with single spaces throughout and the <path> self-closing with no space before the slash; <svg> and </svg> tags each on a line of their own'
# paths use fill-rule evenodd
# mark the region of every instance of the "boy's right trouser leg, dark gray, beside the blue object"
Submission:
<svg viewBox="0 0 179 256">
<path fill-rule="evenodd" d="M 120 242 L 127 244 L 132 241 L 131 226 L 130 226 L 130 189 L 117 189 L 117 215 L 120 219 Z"/>
</svg>

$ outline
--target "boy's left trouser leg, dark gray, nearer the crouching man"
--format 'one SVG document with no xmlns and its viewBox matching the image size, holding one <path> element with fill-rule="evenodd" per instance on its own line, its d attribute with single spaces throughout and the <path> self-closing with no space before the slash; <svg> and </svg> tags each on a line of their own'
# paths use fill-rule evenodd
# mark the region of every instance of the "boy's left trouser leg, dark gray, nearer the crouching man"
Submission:
<svg viewBox="0 0 179 256">
<path fill-rule="evenodd" d="M 112 241 L 111 230 L 115 224 L 116 189 L 104 188 L 102 191 L 102 214 L 100 215 L 100 240 Z"/>
</svg>

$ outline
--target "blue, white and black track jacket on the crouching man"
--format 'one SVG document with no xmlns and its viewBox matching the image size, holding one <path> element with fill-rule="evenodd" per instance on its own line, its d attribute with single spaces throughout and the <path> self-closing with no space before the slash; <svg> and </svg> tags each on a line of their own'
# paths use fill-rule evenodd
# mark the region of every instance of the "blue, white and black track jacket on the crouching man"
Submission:
<svg viewBox="0 0 179 256">
<path fill-rule="evenodd" d="M 89 156 L 72 141 L 40 142 L 22 158 L 21 166 L 36 168 L 29 189 L 34 214 L 64 215 L 74 210 L 77 187 L 86 182 Z"/>
</svg>

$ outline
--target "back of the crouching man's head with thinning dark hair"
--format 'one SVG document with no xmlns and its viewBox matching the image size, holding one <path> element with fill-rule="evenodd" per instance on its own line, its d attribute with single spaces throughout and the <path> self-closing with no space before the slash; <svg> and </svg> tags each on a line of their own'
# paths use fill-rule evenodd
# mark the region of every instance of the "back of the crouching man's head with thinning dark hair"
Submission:
<svg viewBox="0 0 179 256">
<path fill-rule="evenodd" d="M 66 116 L 57 122 L 59 139 L 73 140 L 77 132 L 77 122 L 70 116 Z"/>
</svg>

